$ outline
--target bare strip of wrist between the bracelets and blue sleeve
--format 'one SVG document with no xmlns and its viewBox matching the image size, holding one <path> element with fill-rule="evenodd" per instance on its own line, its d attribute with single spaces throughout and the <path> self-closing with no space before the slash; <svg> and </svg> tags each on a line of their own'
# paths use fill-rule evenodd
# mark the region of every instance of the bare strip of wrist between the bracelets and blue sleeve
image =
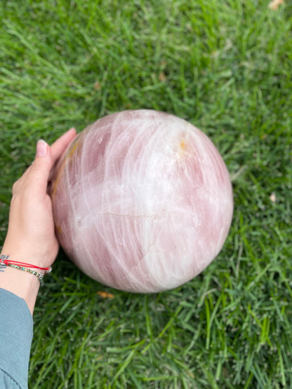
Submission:
<svg viewBox="0 0 292 389">
<path fill-rule="evenodd" d="M 6 254 L 6 253 L 1 253 Z M 12 257 L 11 257 L 12 259 Z M 39 292 L 39 278 L 36 275 L 9 266 L 0 266 L 0 288 L 24 299 L 33 314 L 36 296 Z"/>
</svg>

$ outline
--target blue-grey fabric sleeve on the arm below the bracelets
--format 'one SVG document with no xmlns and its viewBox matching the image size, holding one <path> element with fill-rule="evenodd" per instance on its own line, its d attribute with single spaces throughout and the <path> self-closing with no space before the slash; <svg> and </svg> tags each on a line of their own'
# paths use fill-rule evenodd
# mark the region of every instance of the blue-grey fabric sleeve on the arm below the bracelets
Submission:
<svg viewBox="0 0 292 389">
<path fill-rule="evenodd" d="M 0 388 L 27 389 L 33 321 L 27 303 L 0 288 Z"/>
</svg>

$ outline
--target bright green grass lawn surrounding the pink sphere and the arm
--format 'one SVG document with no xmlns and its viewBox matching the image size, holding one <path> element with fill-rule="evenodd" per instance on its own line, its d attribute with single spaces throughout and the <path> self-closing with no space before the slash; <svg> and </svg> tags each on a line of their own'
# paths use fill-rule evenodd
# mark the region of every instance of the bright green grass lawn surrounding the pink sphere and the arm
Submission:
<svg viewBox="0 0 292 389">
<path fill-rule="evenodd" d="M 234 186 L 223 251 L 178 289 L 115 291 L 61 253 L 36 303 L 29 388 L 292 387 L 292 5 L 268 3 L 1 1 L 1 240 L 36 140 L 115 111 L 197 125 Z"/>
</svg>

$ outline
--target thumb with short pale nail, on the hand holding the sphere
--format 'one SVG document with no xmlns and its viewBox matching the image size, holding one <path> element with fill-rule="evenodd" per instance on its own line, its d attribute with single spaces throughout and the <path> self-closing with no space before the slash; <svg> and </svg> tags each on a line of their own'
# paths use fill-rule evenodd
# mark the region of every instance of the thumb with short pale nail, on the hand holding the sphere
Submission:
<svg viewBox="0 0 292 389">
<path fill-rule="evenodd" d="M 36 157 L 27 175 L 27 184 L 34 193 L 46 194 L 48 176 L 52 167 L 51 148 L 43 139 L 40 139 L 36 144 Z"/>
</svg>

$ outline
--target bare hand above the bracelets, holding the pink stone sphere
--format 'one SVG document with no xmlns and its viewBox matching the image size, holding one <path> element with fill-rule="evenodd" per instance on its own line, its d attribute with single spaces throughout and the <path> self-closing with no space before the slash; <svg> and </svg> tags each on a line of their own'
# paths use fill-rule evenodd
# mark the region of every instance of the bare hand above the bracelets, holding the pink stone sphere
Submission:
<svg viewBox="0 0 292 389">
<path fill-rule="evenodd" d="M 43 268 L 55 261 L 59 244 L 51 198 L 46 191 L 48 177 L 55 161 L 76 135 L 72 128 L 51 147 L 40 140 L 34 162 L 13 185 L 8 232 L 2 249 L 2 254 L 9 255 L 9 259 Z"/>
</svg>

